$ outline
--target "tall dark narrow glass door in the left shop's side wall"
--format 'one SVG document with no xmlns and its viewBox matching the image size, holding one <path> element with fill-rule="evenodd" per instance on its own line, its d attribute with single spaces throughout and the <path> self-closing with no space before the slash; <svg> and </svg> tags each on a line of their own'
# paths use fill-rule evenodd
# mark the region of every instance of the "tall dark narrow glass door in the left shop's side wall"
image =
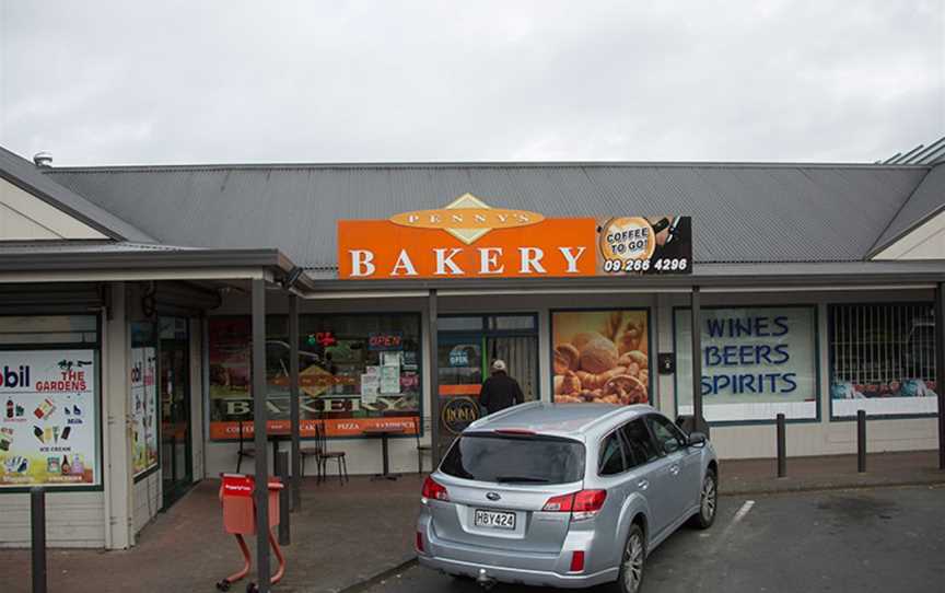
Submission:
<svg viewBox="0 0 945 593">
<path fill-rule="evenodd" d="M 189 334 L 185 318 L 161 317 L 160 326 L 161 472 L 166 509 L 194 482 L 190 462 Z"/>
</svg>

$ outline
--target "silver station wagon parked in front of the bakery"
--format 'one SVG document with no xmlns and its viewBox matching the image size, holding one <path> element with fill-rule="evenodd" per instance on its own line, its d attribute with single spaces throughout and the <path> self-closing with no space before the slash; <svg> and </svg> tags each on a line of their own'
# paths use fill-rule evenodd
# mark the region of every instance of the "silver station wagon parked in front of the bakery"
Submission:
<svg viewBox="0 0 945 593">
<path fill-rule="evenodd" d="M 423 484 L 420 563 L 480 584 L 615 583 L 715 519 L 719 469 L 701 433 L 650 406 L 515 406 L 469 425 Z"/>
</svg>

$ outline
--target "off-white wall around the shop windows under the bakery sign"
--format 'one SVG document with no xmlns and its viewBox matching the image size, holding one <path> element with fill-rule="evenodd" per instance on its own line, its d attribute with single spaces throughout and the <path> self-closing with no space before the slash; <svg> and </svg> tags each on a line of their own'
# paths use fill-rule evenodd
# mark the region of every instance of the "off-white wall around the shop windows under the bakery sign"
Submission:
<svg viewBox="0 0 945 593">
<path fill-rule="evenodd" d="M 827 354 L 827 305 L 831 302 L 863 303 L 894 301 L 930 301 L 932 292 L 921 290 L 872 290 L 872 291 L 770 291 L 756 293 L 702 293 L 703 306 L 738 305 L 803 305 L 818 306 L 818 340 L 820 353 L 819 406 L 820 419 L 809 422 L 789 422 L 788 453 L 791 456 L 831 455 L 855 453 L 855 422 L 831 421 L 829 416 L 829 360 Z M 364 312 L 364 311 L 419 311 L 425 307 L 425 298 L 412 299 L 348 299 L 342 301 L 310 300 L 301 306 L 302 313 Z M 587 291 L 575 294 L 540 294 L 535 291 L 518 294 L 476 295 L 443 291 L 439 307 L 441 314 L 451 313 L 516 313 L 538 314 L 539 327 L 539 385 L 541 398 L 550 400 L 550 314 L 556 309 L 651 309 L 651 359 L 655 365 L 656 354 L 673 352 L 673 310 L 688 306 L 689 294 L 685 292 L 603 292 Z M 246 314 L 248 301 L 230 300 L 215 312 L 219 314 Z M 288 307 L 279 296 L 270 295 L 267 312 L 285 313 Z M 425 330 L 425 317 L 423 327 Z M 424 342 L 427 340 L 423 335 Z M 689 345 L 679 345 L 688 348 Z M 431 360 L 424 353 L 423 406 L 427 431 L 421 442 L 429 442 L 431 394 L 429 391 Z M 655 405 L 669 417 L 676 415 L 676 387 L 673 374 L 660 374 L 653 369 L 653 398 Z M 867 438 L 870 451 L 928 450 L 937 446 L 935 418 L 873 419 L 870 420 Z M 716 426 L 712 428 L 712 440 L 723 458 L 771 457 L 775 455 L 775 429 L 770 425 Z M 284 445 L 283 445 L 284 446 Z M 304 445 L 303 445 L 304 446 Z M 413 438 L 390 440 L 390 467 L 394 472 L 416 472 L 417 451 Z M 373 474 L 381 470 L 381 443 L 372 439 L 330 440 L 329 447 L 345 451 L 352 474 Z M 232 472 L 236 467 L 236 443 L 211 442 L 207 444 L 207 475 Z M 271 463 L 271 458 L 270 458 Z M 424 467 L 429 460 L 424 458 Z M 244 461 L 244 472 L 252 472 L 252 460 Z M 314 473 L 310 462 L 308 474 Z"/>
</svg>

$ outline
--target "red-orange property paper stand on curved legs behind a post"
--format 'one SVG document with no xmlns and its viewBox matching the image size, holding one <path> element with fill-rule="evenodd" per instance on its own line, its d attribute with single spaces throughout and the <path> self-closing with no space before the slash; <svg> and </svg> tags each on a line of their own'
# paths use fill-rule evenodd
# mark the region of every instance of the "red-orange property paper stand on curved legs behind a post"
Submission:
<svg viewBox="0 0 945 593">
<path fill-rule="evenodd" d="M 252 566 L 249 548 L 246 547 L 246 540 L 243 536 L 256 534 L 256 499 L 253 496 L 256 479 L 243 474 L 223 474 L 221 477 L 223 479 L 220 484 L 220 502 L 223 505 L 223 528 L 226 530 L 226 533 L 233 534 L 240 546 L 240 551 L 243 553 L 243 568 L 217 583 L 217 589 L 228 591 L 232 583 L 249 573 Z M 269 478 L 268 486 L 269 545 L 279 560 L 279 570 L 271 579 L 271 583 L 276 584 L 285 572 L 285 559 L 279 548 L 279 543 L 272 536 L 272 527 L 279 524 L 279 490 L 284 488 L 284 485 L 276 478 Z M 253 589 L 252 584 L 250 589 Z"/>
</svg>

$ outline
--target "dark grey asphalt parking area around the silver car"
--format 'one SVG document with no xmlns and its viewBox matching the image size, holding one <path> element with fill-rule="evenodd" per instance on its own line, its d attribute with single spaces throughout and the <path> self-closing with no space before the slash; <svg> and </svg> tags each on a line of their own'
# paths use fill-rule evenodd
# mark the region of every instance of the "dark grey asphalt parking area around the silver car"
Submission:
<svg viewBox="0 0 945 593">
<path fill-rule="evenodd" d="M 643 591 L 886 593 L 941 591 L 942 583 L 945 487 L 923 486 L 723 497 L 711 530 L 684 527 L 653 551 Z M 370 591 L 480 588 L 413 567 Z M 542 591 L 501 584 L 492 590 Z"/>
</svg>

